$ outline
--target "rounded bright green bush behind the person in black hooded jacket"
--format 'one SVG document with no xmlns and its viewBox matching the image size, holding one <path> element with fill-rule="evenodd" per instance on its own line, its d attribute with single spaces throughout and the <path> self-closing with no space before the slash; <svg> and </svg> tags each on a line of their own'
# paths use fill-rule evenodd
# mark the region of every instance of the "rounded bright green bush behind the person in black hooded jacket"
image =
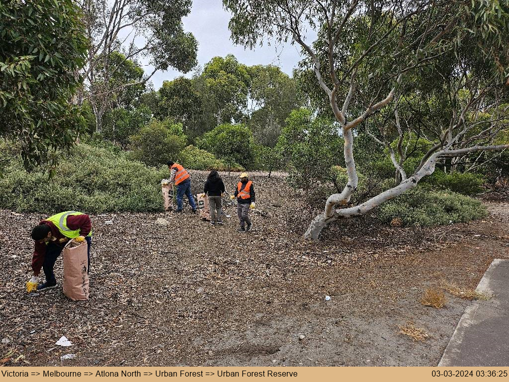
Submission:
<svg viewBox="0 0 509 382">
<path fill-rule="evenodd" d="M 205 133 L 199 146 L 229 166 L 236 163 L 247 169 L 255 166 L 253 134 L 245 125 L 219 125 Z"/>
</svg>

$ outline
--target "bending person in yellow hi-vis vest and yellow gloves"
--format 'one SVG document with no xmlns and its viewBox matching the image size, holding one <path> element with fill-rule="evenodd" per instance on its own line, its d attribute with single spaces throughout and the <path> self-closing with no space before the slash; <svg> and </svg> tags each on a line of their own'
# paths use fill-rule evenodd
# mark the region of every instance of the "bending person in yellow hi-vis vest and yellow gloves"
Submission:
<svg viewBox="0 0 509 382">
<path fill-rule="evenodd" d="M 87 214 L 77 211 L 66 211 L 48 217 L 32 230 L 35 240 L 35 251 L 32 258 L 34 276 L 26 283 L 26 291 L 44 290 L 56 286 L 53 267 L 69 240 L 81 242 L 87 240 L 88 267 L 90 269 L 90 245 L 92 243 L 92 223 Z M 38 276 L 44 269 L 46 282 L 38 285 Z"/>
</svg>

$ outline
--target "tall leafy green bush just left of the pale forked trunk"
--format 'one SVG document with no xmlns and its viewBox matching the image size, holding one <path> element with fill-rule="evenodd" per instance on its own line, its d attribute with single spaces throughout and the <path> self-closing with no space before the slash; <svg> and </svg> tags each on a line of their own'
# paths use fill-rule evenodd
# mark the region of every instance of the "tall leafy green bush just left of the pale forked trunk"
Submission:
<svg viewBox="0 0 509 382">
<path fill-rule="evenodd" d="M 331 123 L 300 108 L 287 118 L 276 148 L 287 162 L 291 182 L 307 194 L 317 182 L 330 181 L 331 168 L 342 156 L 343 140 Z"/>
</svg>

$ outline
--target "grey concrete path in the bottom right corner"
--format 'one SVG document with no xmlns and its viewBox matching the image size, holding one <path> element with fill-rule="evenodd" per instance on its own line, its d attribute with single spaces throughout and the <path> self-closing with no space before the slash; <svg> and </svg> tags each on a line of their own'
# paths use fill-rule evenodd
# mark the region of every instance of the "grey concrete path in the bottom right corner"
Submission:
<svg viewBox="0 0 509 382">
<path fill-rule="evenodd" d="M 509 260 L 493 260 L 476 290 L 493 297 L 465 309 L 438 366 L 509 366 Z"/>
</svg>

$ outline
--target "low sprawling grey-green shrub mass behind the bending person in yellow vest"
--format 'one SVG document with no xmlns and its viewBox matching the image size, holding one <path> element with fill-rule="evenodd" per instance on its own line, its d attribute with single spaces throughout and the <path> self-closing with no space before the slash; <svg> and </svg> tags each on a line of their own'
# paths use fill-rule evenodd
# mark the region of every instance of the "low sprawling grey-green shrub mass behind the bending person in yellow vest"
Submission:
<svg viewBox="0 0 509 382">
<path fill-rule="evenodd" d="M 66 210 L 161 211 L 160 181 L 167 170 L 148 168 L 124 152 L 85 144 L 59 157 L 51 179 L 41 169 L 26 172 L 19 157 L 11 158 L 0 179 L 0 208 L 51 214 Z"/>
</svg>

